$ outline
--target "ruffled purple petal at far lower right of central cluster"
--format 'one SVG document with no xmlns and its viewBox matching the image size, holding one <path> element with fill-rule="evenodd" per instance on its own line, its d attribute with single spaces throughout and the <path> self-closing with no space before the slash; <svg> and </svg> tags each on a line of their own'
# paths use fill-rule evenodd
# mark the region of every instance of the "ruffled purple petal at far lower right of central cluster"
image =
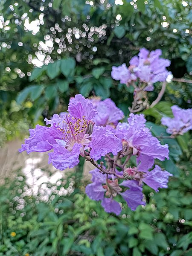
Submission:
<svg viewBox="0 0 192 256">
<path fill-rule="evenodd" d="M 151 172 L 147 172 L 147 176 L 143 178 L 143 182 L 158 192 L 159 188 L 168 187 L 169 176 L 173 175 L 167 171 L 162 171 L 160 166 L 155 165 L 155 168 Z"/>
</svg>

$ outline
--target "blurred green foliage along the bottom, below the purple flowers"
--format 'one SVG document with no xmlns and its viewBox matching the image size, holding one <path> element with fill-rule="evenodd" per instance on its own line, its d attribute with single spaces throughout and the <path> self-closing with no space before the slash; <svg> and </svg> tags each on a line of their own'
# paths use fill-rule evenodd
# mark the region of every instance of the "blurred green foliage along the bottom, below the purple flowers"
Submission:
<svg viewBox="0 0 192 256">
<path fill-rule="evenodd" d="M 184 157 L 180 167 L 168 189 L 144 186 L 146 207 L 132 212 L 122 202 L 118 217 L 84 195 L 79 172 L 35 195 L 18 173 L 0 186 L 0 256 L 190 256 L 192 163 Z"/>
</svg>

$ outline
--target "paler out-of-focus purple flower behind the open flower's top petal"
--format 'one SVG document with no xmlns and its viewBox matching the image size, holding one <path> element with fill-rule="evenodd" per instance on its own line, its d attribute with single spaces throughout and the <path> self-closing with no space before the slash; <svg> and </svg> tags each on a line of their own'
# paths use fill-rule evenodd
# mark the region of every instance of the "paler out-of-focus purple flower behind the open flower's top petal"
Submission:
<svg viewBox="0 0 192 256">
<path fill-rule="evenodd" d="M 98 126 L 112 125 L 116 126 L 118 121 L 124 117 L 124 113 L 116 107 L 115 103 L 111 99 L 105 99 L 103 101 L 95 101 L 95 99 L 90 99 L 94 102 L 94 106 L 98 113 L 93 122 Z"/>
</svg>

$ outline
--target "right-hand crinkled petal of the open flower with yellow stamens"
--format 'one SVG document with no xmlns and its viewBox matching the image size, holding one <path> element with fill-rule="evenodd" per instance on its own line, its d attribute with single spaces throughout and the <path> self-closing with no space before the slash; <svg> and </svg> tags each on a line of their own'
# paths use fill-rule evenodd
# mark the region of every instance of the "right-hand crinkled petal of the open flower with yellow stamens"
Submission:
<svg viewBox="0 0 192 256">
<path fill-rule="evenodd" d="M 102 126 L 94 126 L 92 140 L 89 144 L 91 148 L 90 157 L 99 160 L 107 153 L 116 155 L 122 149 L 122 143 L 119 138 L 111 131 Z"/>
</svg>

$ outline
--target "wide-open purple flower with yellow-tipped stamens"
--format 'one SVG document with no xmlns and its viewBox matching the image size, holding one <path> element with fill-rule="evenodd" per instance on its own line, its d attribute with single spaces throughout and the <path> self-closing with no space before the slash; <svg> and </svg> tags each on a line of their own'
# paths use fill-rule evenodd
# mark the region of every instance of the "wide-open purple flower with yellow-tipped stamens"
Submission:
<svg viewBox="0 0 192 256">
<path fill-rule="evenodd" d="M 84 146 L 90 148 L 94 160 L 109 152 L 116 155 L 122 144 L 115 134 L 104 127 L 95 127 L 92 134 L 87 133 L 89 125 L 92 124 L 90 120 L 96 115 L 93 104 L 78 94 L 70 99 L 65 116 L 55 114 L 51 120 L 45 119 L 50 127 L 37 125 L 35 129 L 30 129 L 30 137 L 19 151 L 27 151 L 29 154 L 32 151 L 45 152 L 53 149 L 53 152 L 48 153 L 48 163 L 60 170 L 76 166 L 79 163 L 79 154 L 84 156 Z"/>
</svg>

